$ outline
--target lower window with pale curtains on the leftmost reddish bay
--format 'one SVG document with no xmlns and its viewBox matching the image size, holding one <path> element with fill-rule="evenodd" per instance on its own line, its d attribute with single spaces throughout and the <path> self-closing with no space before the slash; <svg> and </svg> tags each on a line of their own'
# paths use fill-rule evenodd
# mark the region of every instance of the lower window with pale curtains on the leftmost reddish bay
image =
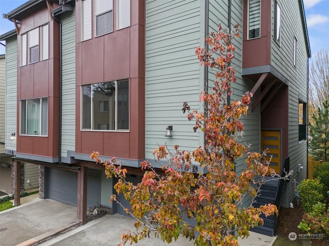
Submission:
<svg viewBox="0 0 329 246">
<path fill-rule="evenodd" d="M 48 98 L 21 100 L 21 135 L 48 135 Z"/>
</svg>

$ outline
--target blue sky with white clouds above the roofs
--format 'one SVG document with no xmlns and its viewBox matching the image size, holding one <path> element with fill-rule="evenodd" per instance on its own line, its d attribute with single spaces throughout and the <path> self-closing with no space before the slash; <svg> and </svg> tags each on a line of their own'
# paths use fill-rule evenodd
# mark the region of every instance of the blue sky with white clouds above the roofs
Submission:
<svg viewBox="0 0 329 246">
<path fill-rule="evenodd" d="M 26 2 L 26 0 L 0 0 L 0 34 L 15 28 L 12 22 L 2 17 L 2 14 L 7 14 Z M 304 0 L 304 8 L 310 49 L 312 56 L 315 57 L 321 48 L 329 48 L 329 0 Z M 0 45 L 0 54 L 4 53 L 5 47 Z"/>
</svg>

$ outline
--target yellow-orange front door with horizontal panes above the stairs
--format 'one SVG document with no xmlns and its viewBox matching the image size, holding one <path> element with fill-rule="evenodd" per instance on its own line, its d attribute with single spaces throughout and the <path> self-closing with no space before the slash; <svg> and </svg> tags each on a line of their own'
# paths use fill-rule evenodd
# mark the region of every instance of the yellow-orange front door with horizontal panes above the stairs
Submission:
<svg viewBox="0 0 329 246">
<path fill-rule="evenodd" d="M 281 174 L 281 131 L 262 130 L 261 148 L 267 151 L 267 160 L 272 157 L 269 167 Z"/>
</svg>

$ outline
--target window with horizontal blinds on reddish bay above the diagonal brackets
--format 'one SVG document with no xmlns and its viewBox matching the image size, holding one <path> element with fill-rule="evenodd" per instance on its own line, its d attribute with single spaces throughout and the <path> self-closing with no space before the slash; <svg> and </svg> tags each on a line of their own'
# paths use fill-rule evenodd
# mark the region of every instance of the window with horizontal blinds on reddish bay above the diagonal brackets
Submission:
<svg viewBox="0 0 329 246">
<path fill-rule="evenodd" d="M 260 37 L 261 1 L 248 1 L 248 39 Z"/>
</svg>

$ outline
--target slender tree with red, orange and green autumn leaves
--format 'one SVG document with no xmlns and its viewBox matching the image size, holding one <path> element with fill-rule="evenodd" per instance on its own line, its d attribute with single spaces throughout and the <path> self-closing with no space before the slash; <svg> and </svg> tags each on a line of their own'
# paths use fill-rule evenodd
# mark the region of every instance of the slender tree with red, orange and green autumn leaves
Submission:
<svg viewBox="0 0 329 246">
<path fill-rule="evenodd" d="M 216 71 L 210 92 L 203 92 L 200 100 L 205 110 L 191 110 L 187 102 L 182 111 L 188 120 L 195 121 L 194 131 L 205 134 L 205 146 L 193 152 L 174 146 L 159 146 L 153 154 L 156 160 L 167 160 L 163 172 L 157 172 L 147 160 L 142 162 L 144 175 L 137 185 L 125 181 L 126 170 L 116 159 L 104 161 L 94 152 L 92 158 L 105 166 L 107 177 L 116 176 L 115 189 L 130 201 L 128 214 L 137 219 L 137 232 L 121 236 L 122 244 L 137 242 L 154 231 L 163 241 L 172 242 L 179 236 L 195 245 L 238 245 L 237 237 L 249 235 L 250 227 L 263 223 L 261 214 L 278 213 L 275 205 L 255 208 L 254 201 L 266 175 L 275 175 L 262 161 L 263 154 L 249 153 L 239 142 L 244 126 L 240 120 L 247 115 L 252 94 L 246 92 L 240 100 L 231 100 L 231 83 L 236 81 L 231 66 L 235 47 L 234 36 L 239 36 L 237 26 L 231 33 L 222 30 L 206 38 L 210 49 L 196 48 L 203 66 Z M 237 159 L 245 159 L 245 169 L 237 175 Z M 206 170 L 206 174 L 193 173 L 192 163 Z M 186 171 L 189 170 L 189 171 Z M 116 196 L 112 196 L 116 201 Z"/>
</svg>

